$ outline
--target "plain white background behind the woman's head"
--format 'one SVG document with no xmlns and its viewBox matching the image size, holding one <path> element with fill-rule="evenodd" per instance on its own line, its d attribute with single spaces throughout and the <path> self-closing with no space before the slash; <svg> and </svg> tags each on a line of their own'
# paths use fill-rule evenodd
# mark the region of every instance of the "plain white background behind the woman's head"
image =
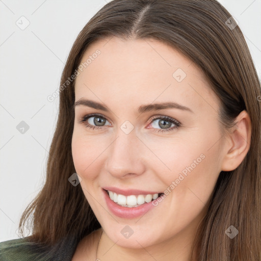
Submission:
<svg viewBox="0 0 261 261">
<path fill-rule="evenodd" d="M 20 216 L 43 186 L 59 105 L 47 96 L 59 88 L 76 36 L 106 3 L 0 0 L 0 242 L 18 238 Z M 260 77 L 261 0 L 220 3 L 238 20 Z M 24 30 L 21 16 L 30 21 Z M 29 125 L 24 134 L 21 121 Z"/>
</svg>

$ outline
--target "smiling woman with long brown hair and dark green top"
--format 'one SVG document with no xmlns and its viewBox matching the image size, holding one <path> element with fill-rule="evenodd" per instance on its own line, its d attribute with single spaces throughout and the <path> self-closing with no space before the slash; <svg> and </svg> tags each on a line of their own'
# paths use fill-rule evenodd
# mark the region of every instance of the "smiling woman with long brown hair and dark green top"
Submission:
<svg viewBox="0 0 261 261">
<path fill-rule="evenodd" d="M 108 3 L 62 74 L 32 236 L 0 259 L 261 260 L 260 95 L 218 2 Z"/>
</svg>

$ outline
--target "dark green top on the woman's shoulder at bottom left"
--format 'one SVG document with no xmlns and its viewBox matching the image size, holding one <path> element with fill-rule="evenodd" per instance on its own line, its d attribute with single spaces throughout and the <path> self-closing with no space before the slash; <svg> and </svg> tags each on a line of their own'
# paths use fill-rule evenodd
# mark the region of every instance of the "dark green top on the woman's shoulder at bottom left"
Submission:
<svg viewBox="0 0 261 261">
<path fill-rule="evenodd" d="M 61 240 L 53 247 L 28 241 L 29 237 L 0 243 L 1 261 L 71 261 L 77 247 L 73 237 Z"/>
</svg>

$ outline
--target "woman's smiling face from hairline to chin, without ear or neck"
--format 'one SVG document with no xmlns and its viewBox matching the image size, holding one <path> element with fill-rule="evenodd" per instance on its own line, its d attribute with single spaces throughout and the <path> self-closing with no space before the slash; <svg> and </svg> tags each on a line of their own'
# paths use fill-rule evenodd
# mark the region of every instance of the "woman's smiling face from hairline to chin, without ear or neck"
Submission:
<svg viewBox="0 0 261 261">
<path fill-rule="evenodd" d="M 185 247 L 222 170 L 217 96 L 192 61 L 155 40 L 100 40 L 79 68 L 72 156 L 103 230 L 123 247 Z M 165 197 L 137 209 L 108 205 L 108 187 L 123 190 L 121 203 L 141 203 L 147 192 Z"/>
</svg>

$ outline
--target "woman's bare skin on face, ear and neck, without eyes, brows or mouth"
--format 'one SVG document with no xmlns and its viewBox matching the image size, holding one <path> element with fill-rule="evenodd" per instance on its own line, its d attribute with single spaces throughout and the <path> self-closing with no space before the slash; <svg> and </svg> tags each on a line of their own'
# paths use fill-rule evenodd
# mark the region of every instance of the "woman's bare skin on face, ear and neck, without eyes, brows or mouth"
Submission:
<svg viewBox="0 0 261 261">
<path fill-rule="evenodd" d="M 100 55 L 76 77 L 75 101 L 94 100 L 110 111 L 76 106 L 72 136 L 75 170 L 102 227 L 96 231 L 102 232 L 97 257 L 102 261 L 161 261 L 173 257 L 175 261 L 188 261 L 219 173 L 236 169 L 249 149 L 249 116 L 243 111 L 238 124 L 224 135 L 218 120 L 220 101 L 202 71 L 160 41 L 102 39 L 88 47 L 82 62 L 97 49 Z M 181 82 L 172 75 L 178 68 L 186 73 Z M 141 105 L 168 101 L 193 112 L 163 109 L 137 113 Z M 80 123 L 91 113 L 106 119 L 101 128 L 86 127 L 88 123 L 94 125 L 93 116 Z M 157 133 L 164 127 L 158 119 L 149 123 L 152 116 L 169 116 L 181 125 Z M 134 126 L 129 134 L 120 128 L 126 120 Z M 166 124 L 175 126 L 167 119 Z M 199 163 L 200 155 L 204 159 Z M 105 186 L 164 192 L 189 166 L 193 169 L 166 198 L 136 219 L 114 216 L 101 193 Z M 126 225 L 134 231 L 128 239 L 121 234 Z M 88 239 L 79 244 L 73 260 L 86 260 L 87 256 L 95 260 L 99 237 L 92 245 Z"/>
</svg>

